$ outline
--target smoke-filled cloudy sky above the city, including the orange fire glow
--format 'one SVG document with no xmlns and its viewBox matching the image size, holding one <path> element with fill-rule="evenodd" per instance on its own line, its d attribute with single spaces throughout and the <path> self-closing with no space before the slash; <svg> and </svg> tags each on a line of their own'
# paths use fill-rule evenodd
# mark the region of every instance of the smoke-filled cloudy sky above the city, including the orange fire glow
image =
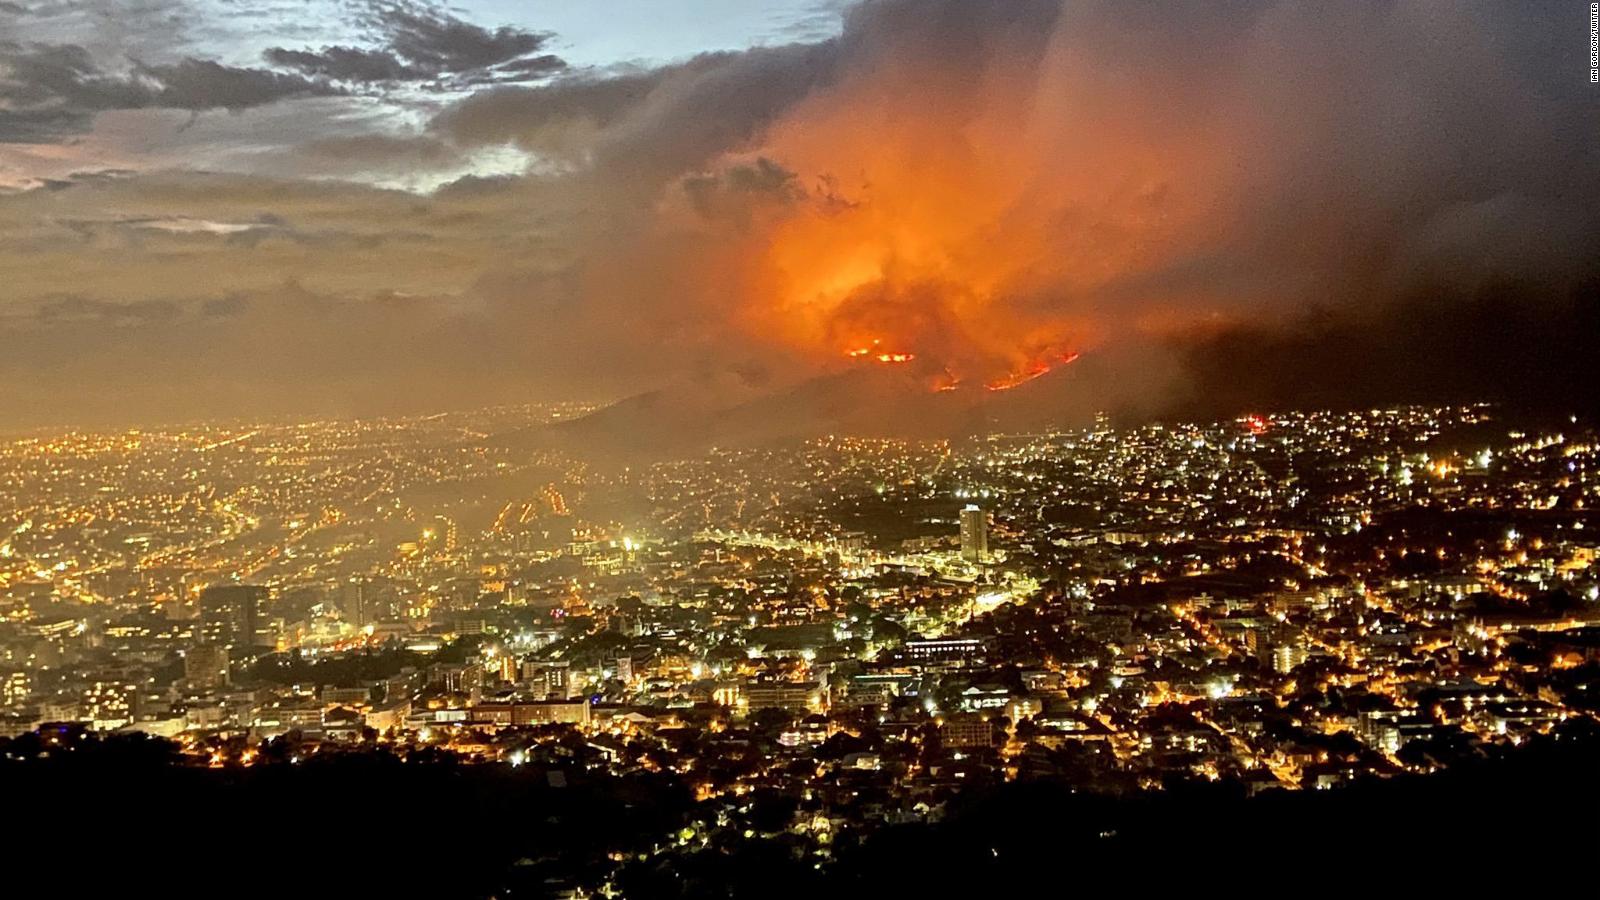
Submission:
<svg viewBox="0 0 1600 900">
<path fill-rule="evenodd" d="M 840 14 L 603 67 L 411 3 L 251 59 L 6 40 L 0 426 L 736 399 L 859 348 L 1082 354 L 1158 415 L 1594 405 L 1587 3 Z"/>
</svg>

